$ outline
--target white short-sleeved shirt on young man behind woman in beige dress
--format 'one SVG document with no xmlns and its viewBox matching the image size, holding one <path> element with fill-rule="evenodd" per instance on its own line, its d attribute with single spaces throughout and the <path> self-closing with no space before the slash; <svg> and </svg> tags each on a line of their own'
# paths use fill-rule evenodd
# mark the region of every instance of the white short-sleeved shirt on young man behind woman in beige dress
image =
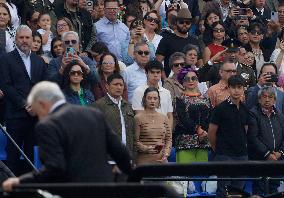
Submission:
<svg viewBox="0 0 284 198">
<path fill-rule="evenodd" d="M 144 110 L 142 106 L 142 98 L 144 91 L 148 88 L 148 85 L 141 85 L 135 89 L 133 98 L 132 98 L 132 108 L 133 110 Z M 171 98 L 171 93 L 169 90 L 159 87 L 159 93 L 161 98 L 161 106 L 157 109 L 157 112 L 167 115 L 167 113 L 173 112 L 173 103 Z"/>
</svg>

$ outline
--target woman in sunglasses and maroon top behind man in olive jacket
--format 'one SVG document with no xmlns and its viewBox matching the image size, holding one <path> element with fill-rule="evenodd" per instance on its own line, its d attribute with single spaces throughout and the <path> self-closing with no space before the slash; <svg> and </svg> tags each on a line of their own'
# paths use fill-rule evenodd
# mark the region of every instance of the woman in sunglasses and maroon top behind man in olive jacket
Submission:
<svg viewBox="0 0 284 198">
<path fill-rule="evenodd" d="M 113 53 L 104 53 L 97 66 L 98 73 L 100 75 L 101 81 L 94 85 L 94 95 L 96 100 L 104 97 L 107 94 L 107 78 L 113 73 L 120 73 L 120 67 L 118 60 Z M 127 101 L 127 88 L 124 86 L 123 99 Z"/>
</svg>

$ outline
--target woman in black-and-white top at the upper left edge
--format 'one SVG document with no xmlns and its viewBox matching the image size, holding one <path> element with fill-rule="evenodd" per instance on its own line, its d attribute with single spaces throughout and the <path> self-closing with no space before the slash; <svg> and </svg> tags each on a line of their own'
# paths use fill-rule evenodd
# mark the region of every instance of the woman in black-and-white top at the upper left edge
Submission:
<svg viewBox="0 0 284 198">
<path fill-rule="evenodd" d="M 0 36 L 2 52 L 13 51 L 15 49 L 15 29 L 11 25 L 10 10 L 5 3 L 0 3 L 0 30 L 5 31 L 3 35 Z"/>
</svg>

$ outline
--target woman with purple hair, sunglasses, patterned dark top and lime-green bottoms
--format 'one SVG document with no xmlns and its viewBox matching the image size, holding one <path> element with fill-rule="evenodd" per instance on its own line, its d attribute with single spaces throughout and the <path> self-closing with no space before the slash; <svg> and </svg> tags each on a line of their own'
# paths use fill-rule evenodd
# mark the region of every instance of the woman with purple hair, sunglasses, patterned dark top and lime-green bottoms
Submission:
<svg viewBox="0 0 284 198">
<path fill-rule="evenodd" d="M 178 121 L 174 142 L 177 163 L 206 162 L 209 148 L 209 99 L 198 90 L 195 70 L 183 68 L 178 74 L 178 80 L 185 90 L 176 99 Z"/>
</svg>

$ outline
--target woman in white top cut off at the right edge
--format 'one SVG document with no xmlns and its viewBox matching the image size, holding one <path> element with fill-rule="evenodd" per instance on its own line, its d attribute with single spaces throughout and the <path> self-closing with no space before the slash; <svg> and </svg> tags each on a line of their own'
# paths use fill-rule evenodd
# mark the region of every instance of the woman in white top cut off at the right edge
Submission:
<svg viewBox="0 0 284 198">
<path fill-rule="evenodd" d="M 284 74 L 284 30 L 279 35 L 279 47 L 271 54 L 270 61 L 278 68 L 278 74 Z"/>
</svg>

